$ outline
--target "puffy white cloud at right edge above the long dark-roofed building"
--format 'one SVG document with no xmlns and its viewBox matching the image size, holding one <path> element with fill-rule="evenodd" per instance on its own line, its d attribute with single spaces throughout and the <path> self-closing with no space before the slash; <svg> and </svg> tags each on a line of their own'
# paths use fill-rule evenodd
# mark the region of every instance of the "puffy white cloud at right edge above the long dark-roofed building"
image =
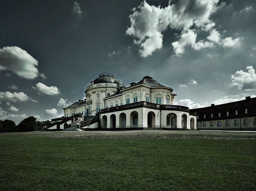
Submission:
<svg viewBox="0 0 256 191">
<path fill-rule="evenodd" d="M 231 85 L 246 91 L 256 90 L 255 69 L 253 69 L 253 66 L 247 66 L 246 69 L 248 69 L 248 72 L 240 70 L 231 76 Z"/>
</svg>

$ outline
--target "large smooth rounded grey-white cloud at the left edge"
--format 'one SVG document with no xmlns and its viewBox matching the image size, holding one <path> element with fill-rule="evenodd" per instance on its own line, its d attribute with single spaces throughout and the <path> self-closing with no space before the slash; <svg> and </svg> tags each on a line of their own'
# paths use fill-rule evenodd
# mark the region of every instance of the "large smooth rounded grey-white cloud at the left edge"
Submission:
<svg viewBox="0 0 256 191">
<path fill-rule="evenodd" d="M 35 66 L 38 61 L 20 47 L 0 48 L 0 71 L 10 70 L 22 78 L 34 79 L 39 73 Z"/>
</svg>

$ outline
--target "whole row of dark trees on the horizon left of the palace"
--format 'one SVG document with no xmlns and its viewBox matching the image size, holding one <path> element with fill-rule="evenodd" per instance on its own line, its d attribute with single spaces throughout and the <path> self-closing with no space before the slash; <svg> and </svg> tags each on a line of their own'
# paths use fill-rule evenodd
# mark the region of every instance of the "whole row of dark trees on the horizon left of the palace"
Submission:
<svg viewBox="0 0 256 191">
<path fill-rule="evenodd" d="M 50 120 L 37 121 L 35 117 L 30 116 L 23 119 L 19 125 L 16 125 L 12 120 L 0 120 L 0 132 L 24 132 L 24 131 L 37 131 L 41 127 L 51 124 Z"/>
</svg>

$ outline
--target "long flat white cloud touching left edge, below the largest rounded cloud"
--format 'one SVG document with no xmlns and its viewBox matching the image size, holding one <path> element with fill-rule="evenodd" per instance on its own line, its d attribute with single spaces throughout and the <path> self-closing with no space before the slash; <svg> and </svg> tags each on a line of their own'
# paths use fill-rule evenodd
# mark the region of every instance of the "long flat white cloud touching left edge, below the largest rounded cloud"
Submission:
<svg viewBox="0 0 256 191">
<path fill-rule="evenodd" d="M 0 91 L 0 100 L 5 100 L 7 102 L 24 102 L 27 100 L 31 100 L 32 102 L 38 102 L 36 100 L 33 100 L 23 92 L 11 93 L 10 91 L 6 91 L 6 92 Z"/>
</svg>

